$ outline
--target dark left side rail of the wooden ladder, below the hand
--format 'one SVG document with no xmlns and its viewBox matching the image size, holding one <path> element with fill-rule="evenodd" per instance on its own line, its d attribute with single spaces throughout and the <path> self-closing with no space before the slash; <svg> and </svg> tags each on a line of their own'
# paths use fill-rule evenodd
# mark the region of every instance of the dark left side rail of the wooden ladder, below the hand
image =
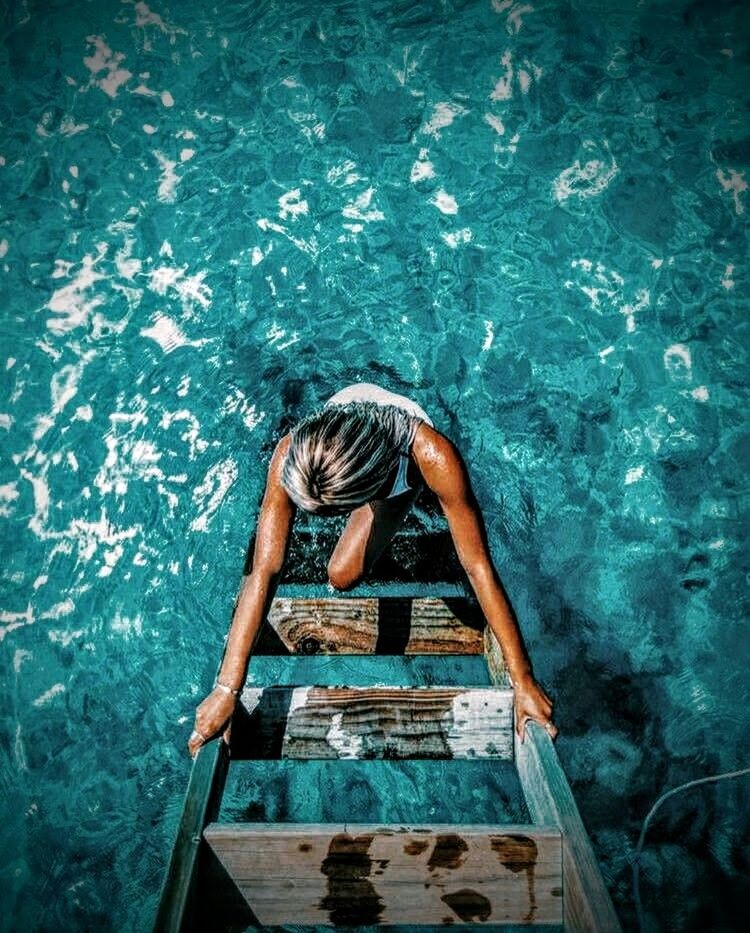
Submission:
<svg viewBox="0 0 750 933">
<path fill-rule="evenodd" d="M 227 745 L 221 740 L 204 745 L 195 756 L 177 838 L 159 897 L 154 933 L 179 933 L 191 928 L 202 832 L 218 814 L 228 764 Z"/>
</svg>

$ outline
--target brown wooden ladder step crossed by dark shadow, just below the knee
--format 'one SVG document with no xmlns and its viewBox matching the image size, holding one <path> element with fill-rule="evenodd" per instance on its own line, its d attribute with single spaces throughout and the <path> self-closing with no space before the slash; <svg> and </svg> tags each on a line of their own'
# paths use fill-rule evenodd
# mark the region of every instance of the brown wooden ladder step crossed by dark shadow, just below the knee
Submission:
<svg viewBox="0 0 750 933">
<path fill-rule="evenodd" d="M 447 600 L 447 602 L 446 602 Z M 270 626 L 291 654 L 482 654 L 484 619 L 475 602 L 412 598 L 276 596 Z M 261 637 L 256 654 L 270 640 Z"/>
</svg>

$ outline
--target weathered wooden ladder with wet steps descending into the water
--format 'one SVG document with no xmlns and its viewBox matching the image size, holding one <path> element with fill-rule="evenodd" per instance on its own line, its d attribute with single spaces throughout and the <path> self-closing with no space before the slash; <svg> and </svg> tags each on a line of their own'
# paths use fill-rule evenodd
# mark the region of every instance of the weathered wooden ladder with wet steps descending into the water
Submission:
<svg viewBox="0 0 750 933">
<path fill-rule="evenodd" d="M 502 655 L 461 584 L 279 587 L 253 656 L 481 655 L 489 686 L 248 686 L 232 725 L 246 759 L 505 759 L 530 821 L 403 825 L 219 822 L 223 741 L 193 765 L 158 931 L 250 925 L 546 926 L 619 931 L 552 741 L 520 743 Z M 252 662 L 251 662 L 252 670 Z"/>
</svg>

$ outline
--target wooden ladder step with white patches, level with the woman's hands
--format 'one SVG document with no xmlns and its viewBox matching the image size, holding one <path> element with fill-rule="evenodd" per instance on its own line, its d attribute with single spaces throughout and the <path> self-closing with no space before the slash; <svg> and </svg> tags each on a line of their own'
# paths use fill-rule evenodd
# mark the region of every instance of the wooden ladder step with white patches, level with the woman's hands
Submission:
<svg viewBox="0 0 750 933">
<path fill-rule="evenodd" d="M 508 759 L 512 701 L 497 687 L 247 687 L 233 730 L 244 758 Z"/>
</svg>

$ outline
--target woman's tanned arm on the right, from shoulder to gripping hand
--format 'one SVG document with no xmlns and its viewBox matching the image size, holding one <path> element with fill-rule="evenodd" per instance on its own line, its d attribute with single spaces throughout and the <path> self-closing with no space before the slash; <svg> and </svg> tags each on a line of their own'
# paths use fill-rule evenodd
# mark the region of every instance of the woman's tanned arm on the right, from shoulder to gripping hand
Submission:
<svg viewBox="0 0 750 933">
<path fill-rule="evenodd" d="M 445 512 L 458 558 L 500 643 L 515 690 L 516 730 L 523 740 L 526 722 L 533 719 L 554 738 L 552 701 L 534 679 L 518 623 L 490 557 L 466 466 L 455 445 L 429 425 L 420 426 L 413 451 L 425 482 Z"/>
</svg>

